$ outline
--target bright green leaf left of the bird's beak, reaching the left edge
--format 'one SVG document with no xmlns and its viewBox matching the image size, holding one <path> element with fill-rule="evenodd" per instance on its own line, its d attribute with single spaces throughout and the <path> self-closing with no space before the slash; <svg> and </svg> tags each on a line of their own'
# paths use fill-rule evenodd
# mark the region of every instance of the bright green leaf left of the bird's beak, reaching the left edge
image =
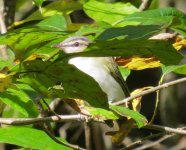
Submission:
<svg viewBox="0 0 186 150">
<path fill-rule="evenodd" d="M 51 40 L 63 37 L 64 32 L 52 32 L 40 28 L 20 28 L 2 36 L 0 44 L 7 44 L 15 52 L 17 58 L 28 57 L 29 51 L 39 49 Z M 50 47 L 50 50 L 55 50 Z M 35 52 L 33 52 L 35 54 Z M 30 53 L 29 53 L 30 54 Z"/>
</svg>

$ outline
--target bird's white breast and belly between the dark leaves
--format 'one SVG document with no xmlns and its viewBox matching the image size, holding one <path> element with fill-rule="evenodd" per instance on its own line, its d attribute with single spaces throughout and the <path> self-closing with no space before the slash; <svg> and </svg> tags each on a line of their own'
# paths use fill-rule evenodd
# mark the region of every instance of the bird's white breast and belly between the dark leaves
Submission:
<svg viewBox="0 0 186 150">
<path fill-rule="evenodd" d="M 117 101 L 125 98 L 120 84 L 110 74 L 109 57 L 75 57 L 69 60 L 82 72 L 91 76 L 107 94 L 109 101 Z"/>
</svg>

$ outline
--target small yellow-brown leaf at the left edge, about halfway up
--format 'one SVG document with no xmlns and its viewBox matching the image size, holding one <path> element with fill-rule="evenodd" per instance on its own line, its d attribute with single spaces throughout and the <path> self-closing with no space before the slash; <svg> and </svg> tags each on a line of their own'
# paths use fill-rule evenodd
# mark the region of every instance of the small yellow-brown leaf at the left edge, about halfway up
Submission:
<svg viewBox="0 0 186 150">
<path fill-rule="evenodd" d="M 0 92 L 4 92 L 12 83 L 12 76 L 0 73 Z"/>
</svg>

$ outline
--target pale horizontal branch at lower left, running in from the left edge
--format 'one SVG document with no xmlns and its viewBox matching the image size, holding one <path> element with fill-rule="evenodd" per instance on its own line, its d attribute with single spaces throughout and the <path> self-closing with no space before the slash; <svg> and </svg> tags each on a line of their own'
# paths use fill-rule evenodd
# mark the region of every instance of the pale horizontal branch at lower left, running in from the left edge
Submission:
<svg viewBox="0 0 186 150">
<path fill-rule="evenodd" d="M 86 121 L 88 116 L 82 114 L 76 115 L 58 115 L 43 118 L 0 118 L 0 124 L 6 125 L 29 125 L 45 122 L 63 122 L 63 121 Z"/>
</svg>

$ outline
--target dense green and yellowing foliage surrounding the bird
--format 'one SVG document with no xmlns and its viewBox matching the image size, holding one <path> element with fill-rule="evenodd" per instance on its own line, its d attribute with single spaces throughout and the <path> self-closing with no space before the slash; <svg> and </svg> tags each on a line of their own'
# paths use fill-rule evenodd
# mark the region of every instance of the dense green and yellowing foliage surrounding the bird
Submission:
<svg viewBox="0 0 186 150">
<path fill-rule="evenodd" d="M 67 63 L 73 55 L 61 51 L 54 55 L 58 49 L 52 45 L 74 35 L 88 36 L 94 41 L 85 52 L 76 55 L 122 56 L 121 61 L 127 60 L 121 64 L 125 78 L 130 70 L 155 67 L 161 67 L 163 75 L 186 74 L 186 66 L 179 64 L 184 56 L 178 51 L 185 44 L 184 38 L 179 37 L 182 43 L 152 38 L 165 30 L 186 36 L 186 15 L 175 8 L 142 12 L 130 3 L 95 0 L 42 4 L 43 0 L 35 0 L 38 9 L 26 19 L 14 22 L 0 36 L 0 44 L 7 45 L 9 57 L 0 57 L 0 102 L 11 107 L 1 110 L 4 118 L 14 117 L 15 112 L 19 113 L 16 117 L 37 117 L 40 99 L 50 103 L 54 98 L 62 98 L 88 102 L 89 106 L 86 102 L 83 105 L 97 121 L 125 116 L 132 118 L 139 128 L 147 124 L 145 116 L 135 109 L 109 106 L 98 84 Z M 83 10 L 93 23 L 73 23 L 70 15 L 77 10 Z M 31 126 L 1 128 L 0 141 L 32 149 L 69 149 Z"/>
</svg>

